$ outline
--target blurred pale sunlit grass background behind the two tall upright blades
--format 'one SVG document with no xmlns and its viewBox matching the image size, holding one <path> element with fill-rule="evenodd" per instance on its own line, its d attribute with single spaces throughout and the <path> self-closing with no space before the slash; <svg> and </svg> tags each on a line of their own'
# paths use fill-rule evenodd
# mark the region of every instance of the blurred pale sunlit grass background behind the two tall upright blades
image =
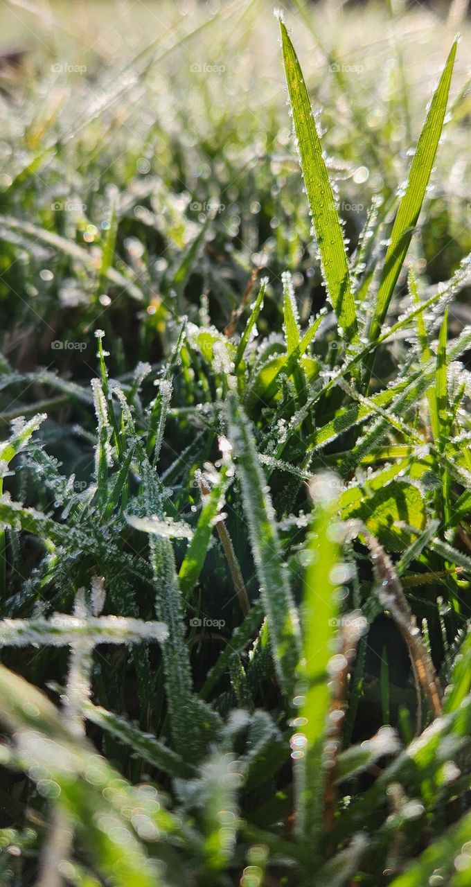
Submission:
<svg viewBox="0 0 471 887">
<path fill-rule="evenodd" d="M 418 270 L 431 283 L 449 278 L 471 248 L 466 11 L 462 3 L 289 7 L 351 249 L 373 194 L 392 200 L 404 181 L 459 27 L 454 123 L 444 131 L 417 240 Z M 204 255 L 195 247 L 178 296 L 195 318 L 205 292 L 211 318 L 224 326 L 254 264 L 273 281 L 285 268 L 295 272 L 304 317 L 324 302 L 271 3 L 7 0 L 0 34 L 0 199 L 2 212 L 20 219 L 2 226 L 0 259 L 3 347 L 13 364 L 58 360 L 63 368 L 51 341 L 67 330 L 87 340 L 104 310 L 124 353 L 128 344 L 134 350 L 138 327 L 141 355 L 160 357 L 166 271 L 199 232 Z M 74 258 L 44 236 L 76 242 L 92 263 L 114 188 L 116 252 L 142 290 L 144 313 L 121 290 L 119 311 L 116 293 L 99 302 Z M 130 365 L 124 359 L 122 369 Z"/>
</svg>

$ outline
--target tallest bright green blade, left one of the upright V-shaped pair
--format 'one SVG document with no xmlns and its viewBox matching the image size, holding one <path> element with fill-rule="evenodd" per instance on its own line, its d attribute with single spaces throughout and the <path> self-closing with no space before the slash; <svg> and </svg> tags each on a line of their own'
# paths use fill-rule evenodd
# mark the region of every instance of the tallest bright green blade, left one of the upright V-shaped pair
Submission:
<svg viewBox="0 0 471 887">
<path fill-rule="evenodd" d="M 357 315 L 351 292 L 349 265 L 334 190 L 328 176 L 318 129 L 310 106 L 309 93 L 293 43 L 282 21 L 281 42 L 294 131 L 299 147 L 302 175 L 326 279 L 327 293 L 339 326 L 348 341 L 357 340 Z"/>
</svg>

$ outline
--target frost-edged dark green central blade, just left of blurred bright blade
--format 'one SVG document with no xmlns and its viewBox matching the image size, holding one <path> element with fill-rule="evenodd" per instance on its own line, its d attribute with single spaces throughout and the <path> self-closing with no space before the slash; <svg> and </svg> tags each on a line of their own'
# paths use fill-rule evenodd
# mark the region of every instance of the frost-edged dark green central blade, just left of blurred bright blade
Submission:
<svg viewBox="0 0 471 887">
<path fill-rule="evenodd" d="M 271 649 L 279 683 L 289 695 L 299 656 L 299 628 L 275 524 L 250 423 L 234 396 L 227 402 L 228 436 L 237 459 L 237 474 L 247 516 L 255 569 L 270 629 Z"/>
</svg>

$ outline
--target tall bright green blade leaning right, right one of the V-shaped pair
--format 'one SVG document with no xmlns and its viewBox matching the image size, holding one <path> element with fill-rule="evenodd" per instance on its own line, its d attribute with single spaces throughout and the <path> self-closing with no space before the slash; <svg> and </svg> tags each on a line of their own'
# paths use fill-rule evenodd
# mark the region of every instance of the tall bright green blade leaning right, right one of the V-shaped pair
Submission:
<svg viewBox="0 0 471 887">
<path fill-rule="evenodd" d="M 436 149 L 444 126 L 444 115 L 450 91 L 451 73 L 457 45 L 455 42 L 451 47 L 444 72 L 436 88 L 427 120 L 420 133 L 417 150 L 414 153 L 404 197 L 397 210 L 369 331 L 371 341 L 377 339 L 381 333 L 381 326 L 386 317 L 389 302 L 391 301 L 397 278 L 403 267 L 405 255 L 411 242 L 412 233 L 419 218 L 428 179 L 435 161 Z"/>
</svg>

